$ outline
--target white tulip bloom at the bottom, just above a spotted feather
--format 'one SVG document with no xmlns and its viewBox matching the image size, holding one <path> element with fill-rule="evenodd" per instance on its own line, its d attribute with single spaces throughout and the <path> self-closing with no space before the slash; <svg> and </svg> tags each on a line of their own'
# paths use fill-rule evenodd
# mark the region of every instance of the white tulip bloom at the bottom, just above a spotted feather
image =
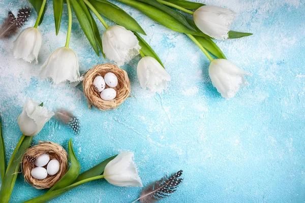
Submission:
<svg viewBox="0 0 305 203">
<path fill-rule="evenodd" d="M 133 152 L 121 152 L 109 161 L 104 170 L 104 178 L 112 185 L 142 187 L 141 178 L 133 161 Z"/>
</svg>

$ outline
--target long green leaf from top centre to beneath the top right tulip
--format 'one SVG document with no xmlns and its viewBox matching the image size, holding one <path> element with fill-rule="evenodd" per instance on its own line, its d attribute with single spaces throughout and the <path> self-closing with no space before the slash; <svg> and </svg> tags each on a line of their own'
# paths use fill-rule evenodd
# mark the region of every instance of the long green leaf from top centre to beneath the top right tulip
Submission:
<svg viewBox="0 0 305 203">
<path fill-rule="evenodd" d="M 138 2 L 135 0 L 117 0 L 119 2 L 128 4 L 138 10 L 140 10 L 142 13 L 144 13 L 149 18 L 155 20 L 156 22 L 170 28 L 171 30 L 182 32 L 182 33 L 188 33 L 190 35 L 196 35 L 201 37 L 208 37 L 200 30 L 191 30 L 181 22 L 179 22 L 177 19 L 172 17 L 171 15 L 167 14 L 164 11 L 161 11 L 160 9 L 150 6 L 148 4 L 144 4 L 142 2 Z M 188 19 L 186 19 L 188 21 Z M 189 22 L 189 21 L 188 21 Z M 190 24 L 190 23 L 189 23 Z M 191 24 L 191 26 L 193 26 Z M 194 26 L 193 26 L 194 27 Z"/>
</svg>

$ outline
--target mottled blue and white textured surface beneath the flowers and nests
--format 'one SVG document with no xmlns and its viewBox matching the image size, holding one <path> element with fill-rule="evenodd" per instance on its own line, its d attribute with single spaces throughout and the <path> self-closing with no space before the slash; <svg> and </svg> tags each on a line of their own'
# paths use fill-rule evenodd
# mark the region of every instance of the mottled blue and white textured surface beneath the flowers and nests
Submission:
<svg viewBox="0 0 305 203">
<path fill-rule="evenodd" d="M 304 202 L 305 1 L 198 2 L 232 9 L 238 14 L 232 29 L 254 33 L 243 39 L 216 41 L 229 60 L 253 73 L 247 78 L 249 87 L 225 100 L 212 87 L 209 61 L 187 36 L 117 4 L 144 28 L 144 38 L 159 54 L 172 82 L 161 94 L 142 90 L 136 76 L 137 57 L 123 67 L 132 83 L 132 97 L 113 111 L 89 110 L 80 87 L 54 86 L 38 78 L 40 65 L 53 50 L 64 46 L 66 39 L 67 7 L 56 37 L 48 1 L 39 27 L 43 44 L 38 65 L 13 58 L 17 36 L 0 41 L 0 111 L 7 158 L 20 137 L 17 117 L 26 99 L 32 97 L 44 101 L 50 110 L 64 107 L 79 117 L 78 136 L 52 118 L 34 144 L 47 140 L 67 149 L 73 138 L 81 171 L 130 150 L 135 152 L 144 185 L 184 170 L 183 184 L 162 202 Z M 0 19 L 8 9 L 16 13 L 25 3 L 2 0 Z M 34 25 L 36 16 L 33 13 L 27 26 Z M 98 24 L 102 32 L 104 28 Z M 109 62 L 95 55 L 75 16 L 72 31 L 70 44 L 82 73 Z M 140 191 L 99 180 L 52 202 L 131 202 Z M 44 192 L 18 176 L 11 202 Z"/>
</svg>

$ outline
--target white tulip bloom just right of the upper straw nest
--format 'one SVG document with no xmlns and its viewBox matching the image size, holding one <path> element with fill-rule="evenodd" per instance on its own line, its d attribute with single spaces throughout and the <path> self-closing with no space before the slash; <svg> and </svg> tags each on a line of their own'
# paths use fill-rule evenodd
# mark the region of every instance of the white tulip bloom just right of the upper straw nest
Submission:
<svg viewBox="0 0 305 203">
<path fill-rule="evenodd" d="M 170 81 L 170 75 L 155 58 L 150 56 L 141 58 L 137 74 L 141 87 L 143 89 L 147 87 L 153 92 L 162 92 Z"/>
</svg>

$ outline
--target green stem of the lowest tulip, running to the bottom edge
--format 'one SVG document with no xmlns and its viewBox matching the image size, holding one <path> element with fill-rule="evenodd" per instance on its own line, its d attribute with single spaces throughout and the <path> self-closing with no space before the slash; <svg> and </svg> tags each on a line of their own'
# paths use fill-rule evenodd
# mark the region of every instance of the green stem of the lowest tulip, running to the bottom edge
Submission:
<svg viewBox="0 0 305 203">
<path fill-rule="evenodd" d="M 61 188 L 61 189 L 58 189 L 58 190 L 54 190 L 54 191 L 51 191 L 51 192 L 47 192 L 43 195 L 40 195 L 38 197 L 35 197 L 33 199 L 29 199 L 27 201 L 24 201 L 23 203 L 43 203 L 43 202 L 47 202 L 47 201 L 50 201 L 66 192 L 68 192 L 69 190 L 72 190 L 73 188 L 81 185 L 81 184 L 84 184 L 86 182 L 89 182 L 89 181 L 93 181 L 93 180 L 97 180 L 97 179 L 102 179 L 104 178 L 104 175 L 101 175 L 101 176 L 95 176 L 95 177 L 92 177 L 92 178 L 87 178 L 87 179 L 84 179 L 84 180 L 81 180 L 81 181 L 78 181 L 72 185 L 69 185 L 67 187 L 64 187 L 64 188 Z"/>
</svg>

